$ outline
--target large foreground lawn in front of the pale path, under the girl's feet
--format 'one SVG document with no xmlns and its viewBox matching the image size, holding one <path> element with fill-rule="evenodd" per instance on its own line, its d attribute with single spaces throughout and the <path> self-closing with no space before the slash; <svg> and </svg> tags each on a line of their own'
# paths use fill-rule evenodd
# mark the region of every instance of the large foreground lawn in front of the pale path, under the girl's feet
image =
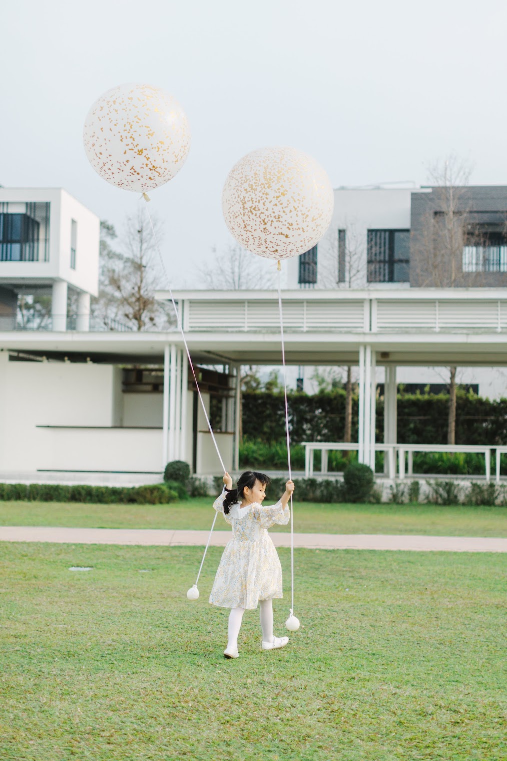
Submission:
<svg viewBox="0 0 507 761">
<path fill-rule="evenodd" d="M 201 556 L 2 545 L 2 761 L 507 759 L 507 557 L 297 550 L 301 629 L 263 653 L 247 612 L 226 661 Z"/>
</svg>

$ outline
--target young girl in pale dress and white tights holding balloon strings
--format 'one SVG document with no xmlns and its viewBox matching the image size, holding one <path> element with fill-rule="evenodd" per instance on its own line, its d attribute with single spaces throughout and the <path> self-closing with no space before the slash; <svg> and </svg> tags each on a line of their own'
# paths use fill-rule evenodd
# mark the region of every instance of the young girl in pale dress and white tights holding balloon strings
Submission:
<svg viewBox="0 0 507 761">
<path fill-rule="evenodd" d="M 289 523 L 287 506 L 294 484 L 288 481 L 276 505 L 262 506 L 268 476 L 248 470 L 232 489 L 232 479 L 224 476 L 225 488 L 213 507 L 232 526 L 232 539 L 224 554 L 209 596 L 212 605 L 231 608 L 225 658 L 238 658 L 238 634 L 245 610 L 260 603 L 263 650 L 282 648 L 289 637 L 273 636 L 273 597 L 282 595 L 282 567 L 275 546 L 267 533 L 273 524 Z"/>
</svg>

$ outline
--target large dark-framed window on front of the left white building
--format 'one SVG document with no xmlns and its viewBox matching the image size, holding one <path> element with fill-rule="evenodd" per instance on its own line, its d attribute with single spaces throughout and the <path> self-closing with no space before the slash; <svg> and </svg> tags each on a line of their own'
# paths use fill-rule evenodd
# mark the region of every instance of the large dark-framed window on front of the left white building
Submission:
<svg viewBox="0 0 507 761">
<path fill-rule="evenodd" d="M 0 204 L 0 261 L 40 259 L 49 260 L 49 203 Z"/>
</svg>

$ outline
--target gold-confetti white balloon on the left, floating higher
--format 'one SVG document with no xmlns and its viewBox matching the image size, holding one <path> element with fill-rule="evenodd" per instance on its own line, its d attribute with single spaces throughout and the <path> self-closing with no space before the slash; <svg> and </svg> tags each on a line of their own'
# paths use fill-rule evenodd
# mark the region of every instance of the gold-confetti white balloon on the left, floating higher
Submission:
<svg viewBox="0 0 507 761">
<path fill-rule="evenodd" d="M 144 193 L 177 174 L 190 148 L 187 116 L 172 95 L 149 84 L 120 84 L 85 119 L 85 152 L 116 187 Z"/>
</svg>

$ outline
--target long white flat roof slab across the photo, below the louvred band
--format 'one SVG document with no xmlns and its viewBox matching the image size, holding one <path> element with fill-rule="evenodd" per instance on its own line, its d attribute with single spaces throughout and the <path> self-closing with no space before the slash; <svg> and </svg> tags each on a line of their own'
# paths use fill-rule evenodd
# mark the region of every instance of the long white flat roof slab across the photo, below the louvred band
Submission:
<svg viewBox="0 0 507 761">
<path fill-rule="evenodd" d="M 285 333 L 290 365 L 357 364 L 359 347 L 371 345 L 378 365 L 507 365 L 507 333 Z M 279 333 L 188 333 L 190 355 L 206 365 L 281 365 Z M 112 365 L 161 365 L 164 346 L 183 348 L 180 333 L 52 333 L 5 331 L 0 350 L 34 358 Z"/>
</svg>

